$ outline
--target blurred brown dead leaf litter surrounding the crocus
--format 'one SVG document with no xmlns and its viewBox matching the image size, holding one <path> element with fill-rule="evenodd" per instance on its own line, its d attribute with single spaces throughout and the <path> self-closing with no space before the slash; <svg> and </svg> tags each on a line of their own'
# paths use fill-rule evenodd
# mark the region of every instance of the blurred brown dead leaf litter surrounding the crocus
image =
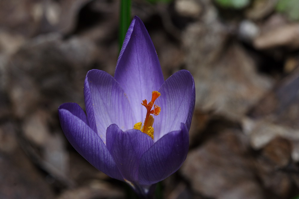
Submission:
<svg viewBox="0 0 299 199">
<path fill-rule="evenodd" d="M 0 198 L 134 198 L 68 143 L 57 107 L 113 75 L 118 0 L 0 0 Z M 196 83 L 190 150 L 161 198 L 299 198 L 299 1 L 132 0 L 164 78 Z"/>
</svg>

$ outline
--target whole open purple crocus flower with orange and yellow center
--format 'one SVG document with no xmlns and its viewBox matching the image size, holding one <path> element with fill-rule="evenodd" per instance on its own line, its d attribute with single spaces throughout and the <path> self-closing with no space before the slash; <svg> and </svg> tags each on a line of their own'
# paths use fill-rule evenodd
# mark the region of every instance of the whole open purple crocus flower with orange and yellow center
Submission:
<svg viewBox="0 0 299 199">
<path fill-rule="evenodd" d="M 77 152 L 110 177 L 147 195 L 151 185 L 176 172 L 186 159 L 193 77 L 180 70 L 164 81 L 155 47 L 137 16 L 114 77 L 90 70 L 84 100 L 86 114 L 76 103 L 59 107 L 62 130 Z"/>
</svg>

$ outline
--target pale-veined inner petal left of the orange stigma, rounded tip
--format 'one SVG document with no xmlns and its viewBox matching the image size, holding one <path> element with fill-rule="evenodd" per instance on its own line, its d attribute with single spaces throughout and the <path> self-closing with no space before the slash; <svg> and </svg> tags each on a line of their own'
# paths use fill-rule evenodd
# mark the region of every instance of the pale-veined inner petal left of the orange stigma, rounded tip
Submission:
<svg viewBox="0 0 299 199">
<path fill-rule="evenodd" d="M 132 129 L 137 123 L 123 89 L 107 72 L 90 70 L 87 73 L 84 99 L 89 123 L 96 124 L 97 133 L 104 143 L 110 124 L 117 124 L 126 130 Z"/>
</svg>

